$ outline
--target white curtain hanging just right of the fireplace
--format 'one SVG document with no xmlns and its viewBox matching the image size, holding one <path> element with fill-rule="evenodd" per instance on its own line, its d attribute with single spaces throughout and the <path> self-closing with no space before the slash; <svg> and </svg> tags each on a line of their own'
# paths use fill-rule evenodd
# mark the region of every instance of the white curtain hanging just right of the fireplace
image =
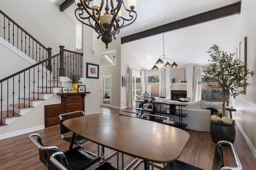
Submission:
<svg viewBox="0 0 256 170">
<path fill-rule="evenodd" d="M 201 84 L 198 82 L 202 81 L 202 67 L 196 67 L 194 70 L 194 90 L 193 90 L 193 101 L 198 101 L 201 99 Z"/>
</svg>

